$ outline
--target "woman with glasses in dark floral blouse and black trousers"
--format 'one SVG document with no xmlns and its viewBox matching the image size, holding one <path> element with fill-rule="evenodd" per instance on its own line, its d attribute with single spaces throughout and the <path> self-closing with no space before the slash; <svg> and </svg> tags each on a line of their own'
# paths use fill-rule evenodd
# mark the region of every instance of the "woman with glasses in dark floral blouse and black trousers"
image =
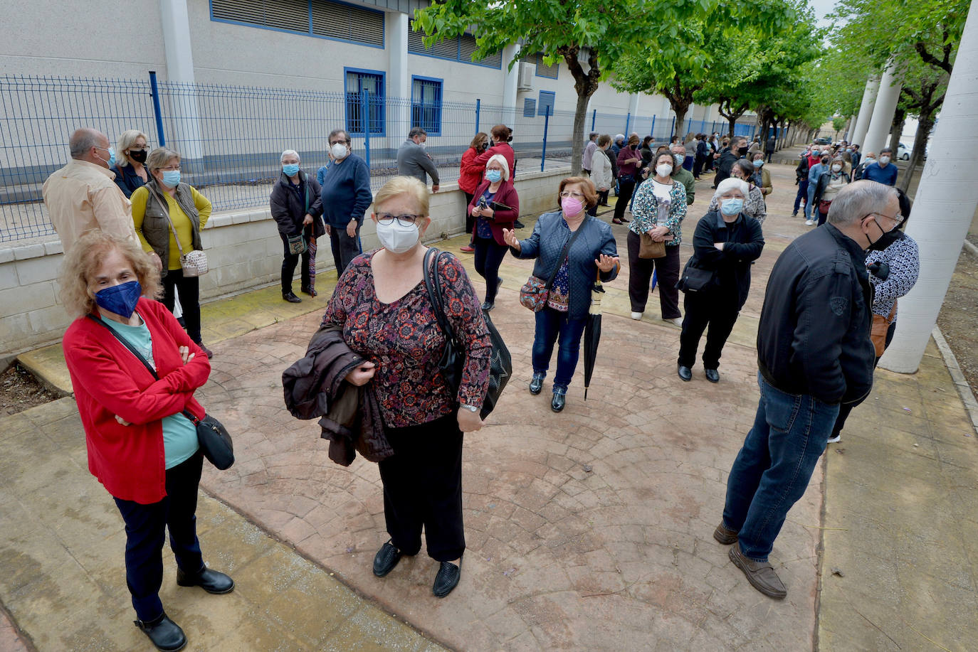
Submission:
<svg viewBox="0 0 978 652">
<path fill-rule="evenodd" d="M 445 333 L 423 282 L 421 238 L 431 223 L 428 192 L 411 177 L 394 177 L 378 191 L 371 217 L 383 248 L 354 258 L 336 283 L 323 325 L 340 326 L 343 341 L 368 362 L 346 381 L 373 382 L 384 435 L 394 455 L 379 462 L 383 513 L 390 540 L 374 558 L 387 575 L 405 554 L 421 549 L 440 567 L 432 592 L 459 584 L 466 548 L 462 521 L 462 441 L 482 427 L 479 410 L 489 386 L 489 330 L 465 269 L 439 256 L 445 317 L 466 355 L 453 394 L 438 369 Z"/>
</svg>

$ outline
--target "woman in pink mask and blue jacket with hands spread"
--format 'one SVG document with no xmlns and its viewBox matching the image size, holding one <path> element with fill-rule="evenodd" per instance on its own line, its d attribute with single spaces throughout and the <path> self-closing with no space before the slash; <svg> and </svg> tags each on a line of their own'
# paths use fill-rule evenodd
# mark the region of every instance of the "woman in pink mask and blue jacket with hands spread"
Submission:
<svg viewBox="0 0 978 652">
<path fill-rule="evenodd" d="M 512 255 L 537 259 L 533 276 L 549 279 L 556 269 L 547 306 L 535 313 L 530 381 L 530 393 L 539 394 L 556 343 L 551 400 L 551 410 L 556 413 L 563 410 L 567 385 L 577 367 L 581 336 L 591 307 L 591 290 L 599 277 L 602 282 L 612 281 L 621 268 L 611 227 L 587 214 L 587 209 L 598 203 L 598 193 L 591 180 L 567 177 L 560 182 L 558 202 L 561 210 L 541 215 L 529 238 L 516 239 L 512 231 L 503 230 Z"/>
</svg>

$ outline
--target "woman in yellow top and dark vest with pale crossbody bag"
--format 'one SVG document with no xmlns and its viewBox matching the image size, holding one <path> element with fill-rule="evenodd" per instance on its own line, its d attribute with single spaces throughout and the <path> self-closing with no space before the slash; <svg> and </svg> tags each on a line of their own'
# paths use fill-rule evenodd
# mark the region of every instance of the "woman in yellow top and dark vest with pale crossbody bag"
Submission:
<svg viewBox="0 0 978 652">
<path fill-rule="evenodd" d="M 180 256 L 202 250 L 200 230 L 210 217 L 210 201 L 181 181 L 180 154 L 156 148 L 147 156 L 150 179 L 132 194 L 132 221 L 146 251 L 155 251 L 163 263 L 163 303 L 173 312 L 177 293 L 187 334 L 210 358 L 200 341 L 200 280 L 185 277 Z"/>
</svg>

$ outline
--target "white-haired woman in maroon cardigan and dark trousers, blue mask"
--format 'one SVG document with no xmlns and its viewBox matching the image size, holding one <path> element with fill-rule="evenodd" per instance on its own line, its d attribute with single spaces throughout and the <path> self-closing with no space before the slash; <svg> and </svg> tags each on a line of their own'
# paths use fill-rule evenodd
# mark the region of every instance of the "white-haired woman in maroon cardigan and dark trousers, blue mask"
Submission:
<svg viewBox="0 0 978 652">
<path fill-rule="evenodd" d="M 482 310 L 496 305 L 496 290 L 503 280 L 499 266 L 509 250 L 503 229 L 512 231 L 519 216 L 519 196 L 510 181 L 510 164 L 502 154 L 486 161 L 485 181 L 468 202 L 468 214 L 475 218 L 472 241 L 475 245 L 475 271 L 486 281 Z"/>
</svg>

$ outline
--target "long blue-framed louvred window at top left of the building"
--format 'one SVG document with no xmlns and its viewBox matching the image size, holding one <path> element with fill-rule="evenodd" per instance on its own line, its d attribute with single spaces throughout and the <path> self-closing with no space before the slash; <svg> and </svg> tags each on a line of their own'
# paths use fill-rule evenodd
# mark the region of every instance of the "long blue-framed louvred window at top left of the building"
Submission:
<svg viewBox="0 0 978 652">
<path fill-rule="evenodd" d="M 383 13 L 331 0 L 210 0 L 210 20 L 383 47 Z"/>
</svg>

